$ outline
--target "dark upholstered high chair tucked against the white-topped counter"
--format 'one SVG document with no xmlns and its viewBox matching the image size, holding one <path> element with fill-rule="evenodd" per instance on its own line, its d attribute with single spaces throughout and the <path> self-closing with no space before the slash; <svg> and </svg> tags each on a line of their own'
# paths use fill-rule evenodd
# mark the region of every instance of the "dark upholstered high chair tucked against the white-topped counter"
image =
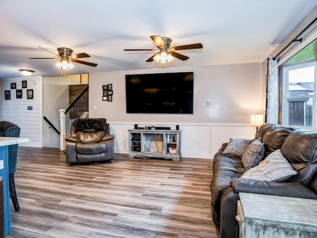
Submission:
<svg viewBox="0 0 317 238">
<path fill-rule="evenodd" d="M 0 121 L 0 136 L 4 137 L 19 137 L 20 127 L 16 124 L 2 120 Z M 8 158 L 9 158 L 9 189 L 10 197 L 14 206 L 14 210 L 20 210 L 18 198 L 15 191 L 14 173 L 16 172 L 16 158 L 18 154 L 18 144 L 8 145 Z"/>
</svg>

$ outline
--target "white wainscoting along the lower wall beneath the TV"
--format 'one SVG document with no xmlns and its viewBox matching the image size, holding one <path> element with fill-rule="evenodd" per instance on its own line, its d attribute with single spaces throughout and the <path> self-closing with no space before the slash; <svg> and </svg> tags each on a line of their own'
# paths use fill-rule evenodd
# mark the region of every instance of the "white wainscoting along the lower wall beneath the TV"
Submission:
<svg viewBox="0 0 317 238">
<path fill-rule="evenodd" d="M 115 136 L 114 152 L 127 154 L 129 150 L 128 129 L 134 128 L 133 122 L 108 122 L 110 133 Z M 168 126 L 175 129 L 175 123 L 138 124 Z M 212 124 L 212 123 L 180 123 L 182 157 L 212 159 L 222 143 L 230 138 L 252 139 L 256 128 L 249 124 Z"/>
</svg>

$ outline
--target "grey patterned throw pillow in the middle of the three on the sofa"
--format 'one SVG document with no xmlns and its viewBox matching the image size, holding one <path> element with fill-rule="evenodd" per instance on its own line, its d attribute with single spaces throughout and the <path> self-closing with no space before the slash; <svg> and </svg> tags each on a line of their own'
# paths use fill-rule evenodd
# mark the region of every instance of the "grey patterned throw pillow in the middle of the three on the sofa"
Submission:
<svg viewBox="0 0 317 238">
<path fill-rule="evenodd" d="M 244 151 L 242 164 L 246 170 L 257 166 L 264 157 L 264 143 L 260 139 L 253 141 Z"/>
</svg>

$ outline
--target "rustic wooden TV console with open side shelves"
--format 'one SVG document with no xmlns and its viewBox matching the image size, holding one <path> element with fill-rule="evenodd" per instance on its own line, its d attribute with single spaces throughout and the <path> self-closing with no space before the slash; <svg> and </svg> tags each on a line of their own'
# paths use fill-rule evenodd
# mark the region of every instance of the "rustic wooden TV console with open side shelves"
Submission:
<svg viewBox="0 0 317 238">
<path fill-rule="evenodd" d="M 128 158 L 181 160 L 181 130 L 129 129 Z"/>
</svg>

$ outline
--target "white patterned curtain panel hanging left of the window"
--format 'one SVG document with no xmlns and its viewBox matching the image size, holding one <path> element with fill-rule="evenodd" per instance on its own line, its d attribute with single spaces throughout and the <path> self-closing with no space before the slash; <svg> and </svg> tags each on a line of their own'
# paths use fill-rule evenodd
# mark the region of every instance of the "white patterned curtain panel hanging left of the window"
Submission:
<svg viewBox="0 0 317 238">
<path fill-rule="evenodd" d="M 278 123 L 277 59 L 267 59 L 265 122 Z"/>
</svg>

